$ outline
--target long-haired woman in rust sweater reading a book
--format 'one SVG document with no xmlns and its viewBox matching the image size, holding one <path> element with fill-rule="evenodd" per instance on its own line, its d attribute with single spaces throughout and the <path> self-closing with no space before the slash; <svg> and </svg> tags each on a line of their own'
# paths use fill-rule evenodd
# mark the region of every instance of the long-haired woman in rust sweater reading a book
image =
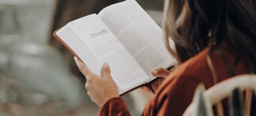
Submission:
<svg viewBox="0 0 256 116">
<path fill-rule="evenodd" d="M 179 66 L 172 73 L 152 71 L 166 79 L 154 87 L 157 92 L 142 115 L 181 116 L 198 83 L 207 89 L 235 75 L 256 74 L 256 0 L 166 0 L 164 11 L 167 49 Z M 182 12 L 184 19 L 177 25 Z M 175 51 L 169 47 L 169 37 Z M 130 115 L 107 63 L 99 77 L 76 58 L 75 62 L 87 79 L 88 95 L 101 107 L 99 115 Z M 227 103 L 223 104 L 228 115 Z"/>
</svg>

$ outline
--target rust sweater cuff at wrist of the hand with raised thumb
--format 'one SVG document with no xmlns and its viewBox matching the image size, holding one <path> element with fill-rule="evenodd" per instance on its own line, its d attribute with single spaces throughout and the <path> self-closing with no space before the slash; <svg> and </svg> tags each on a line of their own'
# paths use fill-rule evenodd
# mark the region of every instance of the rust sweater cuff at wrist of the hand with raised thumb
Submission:
<svg viewBox="0 0 256 116">
<path fill-rule="evenodd" d="M 121 97 L 109 99 L 100 109 L 99 116 L 131 116 Z"/>
</svg>

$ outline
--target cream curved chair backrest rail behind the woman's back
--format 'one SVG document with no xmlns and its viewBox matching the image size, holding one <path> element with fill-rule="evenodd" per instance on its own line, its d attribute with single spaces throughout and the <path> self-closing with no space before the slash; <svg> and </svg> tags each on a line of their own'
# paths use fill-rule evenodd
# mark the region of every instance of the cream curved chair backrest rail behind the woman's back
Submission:
<svg viewBox="0 0 256 116">
<path fill-rule="evenodd" d="M 252 89 L 256 90 L 256 75 L 246 74 L 226 79 L 204 91 L 204 95 L 209 99 L 211 105 L 215 105 L 222 99 L 230 96 L 235 88 L 238 88 L 241 91 Z M 250 107 L 250 105 L 245 105 Z M 245 109 L 250 109 L 248 107 L 245 107 Z M 192 102 L 185 110 L 183 116 L 191 116 L 195 111 L 195 108 L 195 103 Z"/>
</svg>

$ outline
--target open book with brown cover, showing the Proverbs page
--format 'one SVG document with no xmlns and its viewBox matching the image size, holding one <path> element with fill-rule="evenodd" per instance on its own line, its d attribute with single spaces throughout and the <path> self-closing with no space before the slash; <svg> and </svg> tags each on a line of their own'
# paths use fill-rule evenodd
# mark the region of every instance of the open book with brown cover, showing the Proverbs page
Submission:
<svg viewBox="0 0 256 116">
<path fill-rule="evenodd" d="M 163 30 L 135 0 L 69 22 L 54 36 L 97 75 L 107 62 L 120 95 L 156 79 L 152 70 L 176 64 Z M 171 40 L 170 45 L 174 47 Z"/>
</svg>

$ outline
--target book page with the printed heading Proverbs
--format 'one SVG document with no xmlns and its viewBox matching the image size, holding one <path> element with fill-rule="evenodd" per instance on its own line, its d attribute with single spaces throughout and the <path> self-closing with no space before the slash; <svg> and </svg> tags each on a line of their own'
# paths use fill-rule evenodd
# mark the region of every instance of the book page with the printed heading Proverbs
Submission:
<svg viewBox="0 0 256 116">
<path fill-rule="evenodd" d="M 109 64 L 111 75 L 121 89 L 126 90 L 150 79 L 96 14 L 70 22 L 68 26 L 88 47 L 101 66 L 104 62 Z M 101 70 L 101 66 L 98 70 Z"/>
</svg>

